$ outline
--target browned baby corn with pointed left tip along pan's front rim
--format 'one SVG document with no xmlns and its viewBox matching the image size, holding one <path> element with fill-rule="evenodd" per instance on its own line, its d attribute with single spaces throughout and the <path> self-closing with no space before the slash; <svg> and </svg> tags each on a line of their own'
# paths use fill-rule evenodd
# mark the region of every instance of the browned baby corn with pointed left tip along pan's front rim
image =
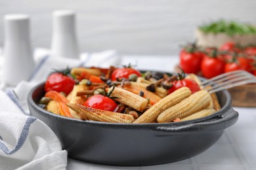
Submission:
<svg viewBox="0 0 256 170">
<path fill-rule="evenodd" d="M 110 112 L 106 110 L 94 109 L 77 104 L 66 104 L 70 109 L 73 109 L 81 118 L 88 118 L 99 122 L 113 122 L 113 123 L 132 123 L 135 119 L 131 114 L 122 114 L 119 112 Z"/>
</svg>

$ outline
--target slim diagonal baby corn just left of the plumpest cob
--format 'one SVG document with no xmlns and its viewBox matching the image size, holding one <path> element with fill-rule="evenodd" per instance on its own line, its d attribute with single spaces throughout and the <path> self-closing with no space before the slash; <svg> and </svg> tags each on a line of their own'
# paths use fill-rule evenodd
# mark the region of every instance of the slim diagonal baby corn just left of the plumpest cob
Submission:
<svg viewBox="0 0 256 170">
<path fill-rule="evenodd" d="M 184 100 L 186 97 L 191 95 L 191 91 L 187 87 L 179 88 L 178 90 L 175 90 L 175 92 L 167 95 L 158 103 L 150 107 L 150 109 L 146 110 L 137 120 L 135 120 L 135 124 L 142 124 L 142 123 L 152 123 L 156 122 L 156 119 L 158 118 L 158 115 L 163 112 L 163 110 L 168 109 L 169 107 L 172 107 L 176 105 L 177 103 L 180 103 L 182 100 Z"/>
</svg>

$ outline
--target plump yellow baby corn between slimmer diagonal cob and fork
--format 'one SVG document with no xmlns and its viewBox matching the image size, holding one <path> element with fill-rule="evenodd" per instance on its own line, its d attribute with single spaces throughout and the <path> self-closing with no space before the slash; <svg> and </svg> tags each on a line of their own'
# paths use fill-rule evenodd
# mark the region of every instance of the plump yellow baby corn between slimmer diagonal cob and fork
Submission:
<svg viewBox="0 0 256 170">
<path fill-rule="evenodd" d="M 175 118 L 184 118 L 194 112 L 207 108 L 210 103 L 211 95 L 207 91 L 201 90 L 193 93 L 190 97 L 182 100 L 181 103 L 161 112 L 157 119 L 158 123 L 171 122 Z"/>
</svg>

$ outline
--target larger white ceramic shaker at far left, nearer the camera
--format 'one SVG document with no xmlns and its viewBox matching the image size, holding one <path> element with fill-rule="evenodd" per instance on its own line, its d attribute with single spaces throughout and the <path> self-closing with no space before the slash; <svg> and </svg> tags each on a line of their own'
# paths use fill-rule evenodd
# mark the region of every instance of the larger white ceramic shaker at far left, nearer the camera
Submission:
<svg viewBox="0 0 256 170">
<path fill-rule="evenodd" d="M 26 14 L 4 16 L 3 82 L 15 86 L 33 73 L 30 17 Z"/>
</svg>

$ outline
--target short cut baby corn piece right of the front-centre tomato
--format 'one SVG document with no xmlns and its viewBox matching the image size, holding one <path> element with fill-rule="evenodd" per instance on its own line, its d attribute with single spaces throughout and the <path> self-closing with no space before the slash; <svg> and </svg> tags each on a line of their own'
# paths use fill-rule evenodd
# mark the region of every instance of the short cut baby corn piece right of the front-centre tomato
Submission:
<svg viewBox="0 0 256 170">
<path fill-rule="evenodd" d="M 112 91 L 111 97 L 117 97 L 116 101 L 123 103 L 135 110 L 142 111 L 146 109 L 146 106 L 148 105 L 148 100 L 144 99 L 143 97 L 140 97 L 140 95 L 137 95 L 135 93 L 129 92 L 127 90 L 123 90 L 121 88 L 115 87 L 108 88 L 108 92 Z"/>
</svg>

